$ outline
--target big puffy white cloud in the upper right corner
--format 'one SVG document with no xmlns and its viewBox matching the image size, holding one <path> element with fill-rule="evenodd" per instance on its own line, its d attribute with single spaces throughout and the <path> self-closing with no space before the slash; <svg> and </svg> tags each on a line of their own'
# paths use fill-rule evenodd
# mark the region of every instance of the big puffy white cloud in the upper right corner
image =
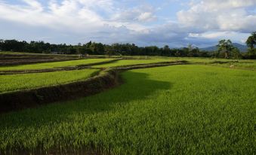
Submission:
<svg viewBox="0 0 256 155">
<path fill-rule="evenodd" d="M 192 3 L 187 11 L 179 11 L 177 18 L 184 26 L 220 31 L 251 32 L 256 27 L 256 14 L 248 14 L 246 7 L 255 0 L 202 0 Z"/>
</svg>

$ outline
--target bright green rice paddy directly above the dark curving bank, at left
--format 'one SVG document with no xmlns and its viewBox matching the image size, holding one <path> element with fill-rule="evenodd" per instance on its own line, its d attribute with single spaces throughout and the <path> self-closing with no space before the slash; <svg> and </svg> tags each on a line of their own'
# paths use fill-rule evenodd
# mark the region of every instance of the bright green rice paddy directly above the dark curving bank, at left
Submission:
<svg viewBox="0 0 256 155">
<path fill-rule="evenodd" d="M 83 69 L 74 71 L 55 71 L 32 74 L 0 75 L 0 93 L 17 90 L 30 90 L 37 87 L 46 87 L 65 84 L 90 78 L 97 69 Z"/>
</svg>

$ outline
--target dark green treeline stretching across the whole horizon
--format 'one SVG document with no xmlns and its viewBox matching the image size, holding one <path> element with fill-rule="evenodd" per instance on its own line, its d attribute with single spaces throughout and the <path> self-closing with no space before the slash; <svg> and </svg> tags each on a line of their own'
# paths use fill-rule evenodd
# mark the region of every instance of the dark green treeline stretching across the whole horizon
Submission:
<svg viewBox="0 0 256 155">
<path fill-rule="evenodd" d="M 229 59 L 256 59 L 256 32 L 246 41 L 248 45 L 247 53 L 240 53 L 239 49 L 233 47 L 230 40 L 221 40 L 217 45 L 217 51 L 209 52 L 199 50 L 189 44 L 188 47 L 170 48 L 164 47 L 138 47 L 135 44 L 102 44 L 89 41 L 86 44 L 67 45 L 50 44 L 44 41 L 17 41 L 0 40 L 0 50 L 26 52 L 26 53 L 61 53 L 61 54 L 89 54 L 89 55 L 122 55 L 122 56 L 189 56 L 189 57 L 217 57 Z"/>
</svg>

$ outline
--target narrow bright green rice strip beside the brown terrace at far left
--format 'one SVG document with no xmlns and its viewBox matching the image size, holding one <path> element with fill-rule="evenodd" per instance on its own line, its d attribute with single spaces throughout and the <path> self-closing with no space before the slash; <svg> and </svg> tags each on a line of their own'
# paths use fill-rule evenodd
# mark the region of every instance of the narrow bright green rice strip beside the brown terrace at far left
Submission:
<svg viewBox="0 0 256 155">
<path fill-rule="evenodd" d="M 79 59 L 70 60 L 63 62 L 44 62 L 32 65 L 14 65 L 14 66 L 4 66 L 0 67 L 0 71 L 13 71 L 13 70 L 31 70 L 31 69 L 46 69 L 46 68 L 57 68 L 66 66 L 76 66 L 76 65 L 87 65 L 90 63 L 106 62 L 112 59 Z"/>
</svg>

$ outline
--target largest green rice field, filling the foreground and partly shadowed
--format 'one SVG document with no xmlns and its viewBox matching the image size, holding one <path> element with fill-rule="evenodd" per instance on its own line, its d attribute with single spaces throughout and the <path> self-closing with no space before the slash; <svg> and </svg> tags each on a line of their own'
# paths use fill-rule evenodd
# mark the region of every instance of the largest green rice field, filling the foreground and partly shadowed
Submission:
<svg viewBox="0 0 256 155">
<path fill-rule="evenodd" d="M 2 114 L 0 150 L 86 146 L 116 154 L 253 154 L 256 72 L 173 65 L 66 104 Z"/>
</svg>

